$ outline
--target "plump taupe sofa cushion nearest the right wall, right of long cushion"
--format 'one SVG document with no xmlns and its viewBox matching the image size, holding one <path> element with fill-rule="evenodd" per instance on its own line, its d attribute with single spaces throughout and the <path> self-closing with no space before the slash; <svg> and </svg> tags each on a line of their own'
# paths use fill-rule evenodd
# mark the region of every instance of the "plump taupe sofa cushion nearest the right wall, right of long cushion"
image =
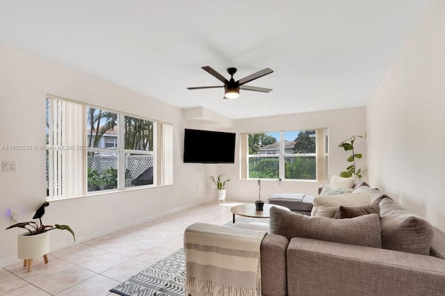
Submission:
<svg viewBox="0 0 445 296">
<path fill-rule="evenodd" d="M 434 231 L 432 225 L 389 198 L 380 201 L 382 247 L 401 252 L 429 255 Z"/>
</svg>

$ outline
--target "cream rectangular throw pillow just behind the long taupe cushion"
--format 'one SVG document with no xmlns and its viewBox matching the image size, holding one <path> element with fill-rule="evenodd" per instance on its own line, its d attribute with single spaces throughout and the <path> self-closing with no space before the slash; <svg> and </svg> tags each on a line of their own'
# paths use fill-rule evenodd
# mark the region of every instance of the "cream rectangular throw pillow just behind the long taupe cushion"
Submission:
<svg viewBox="0 0 445 296">
<path fill-rule="evenodd" d="M 369 192 L 316 197 L 314 199 L 311 216 L 332 218 L 339 209 L 339 206 L 365 206 L 366 204 L 371 204 L 371 195 L 369 195 Z"/>
</svg>

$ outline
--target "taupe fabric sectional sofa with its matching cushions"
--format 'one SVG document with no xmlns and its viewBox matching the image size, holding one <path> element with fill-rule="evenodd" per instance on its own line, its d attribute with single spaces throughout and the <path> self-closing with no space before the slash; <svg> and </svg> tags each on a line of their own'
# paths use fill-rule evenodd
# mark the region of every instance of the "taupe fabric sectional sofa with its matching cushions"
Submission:
<svg viewBox="0 0 445 296">
<path fill-rule="evenodd" d="M 380 215 L 333 219 L 271 208 L 262 294 L 445 295 L 445 233 L 362 181 L 353 192 L 369 192 Z"/>
</svg>

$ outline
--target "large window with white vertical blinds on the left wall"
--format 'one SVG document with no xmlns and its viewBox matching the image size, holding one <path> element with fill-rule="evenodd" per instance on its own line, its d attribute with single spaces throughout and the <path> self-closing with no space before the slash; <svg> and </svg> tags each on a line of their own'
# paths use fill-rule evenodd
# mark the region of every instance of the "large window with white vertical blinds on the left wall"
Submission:
<svg viewBox="0 0 445 296">
<path fill-rule="evenodd" d="M 172 125 L 47 97 L 47 198 L 172 183 Z"/>
</svg>

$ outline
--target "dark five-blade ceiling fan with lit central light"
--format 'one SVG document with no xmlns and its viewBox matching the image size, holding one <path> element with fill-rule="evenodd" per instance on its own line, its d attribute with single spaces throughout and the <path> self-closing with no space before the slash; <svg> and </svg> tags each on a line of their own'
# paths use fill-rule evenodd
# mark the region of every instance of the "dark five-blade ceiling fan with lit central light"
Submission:
<svg viewBox="0 0 445 296">
<path fill-rule="evenodd" d="M 202 67 L 204 71 L 209 72 L 209 74 L 213 75 L 219 81 L 222 81 L 224 85 L 216 85 L 216 86 L 197 86 L 195 88 L 187 88 L 188 90 L 200 90 L 203 88 L 224 88 L 224 99 L 236 99 L 239 97 L 239 90 L 253 90 L 255 92 L 270 92 L 270 88 L 259 88 L 257 86 L 249 86 L 245 85 L 254 79 L 258 79 L 262 76 L 270 74 L 273 72 L 272 69 L 266 68 L 261 71 L 255 72 L 254 74 L 250 74 L 249 76 L 245 76 L 242 79 L 237 81 L 234 80 L 234 74 L 236 73 L 236 68 L 227 68 L 227 73 L 229 73 L 230 80 L 227 80 L 223 75 L 218 73 L 215 69 L 210 66 Z"/>
</svg>

